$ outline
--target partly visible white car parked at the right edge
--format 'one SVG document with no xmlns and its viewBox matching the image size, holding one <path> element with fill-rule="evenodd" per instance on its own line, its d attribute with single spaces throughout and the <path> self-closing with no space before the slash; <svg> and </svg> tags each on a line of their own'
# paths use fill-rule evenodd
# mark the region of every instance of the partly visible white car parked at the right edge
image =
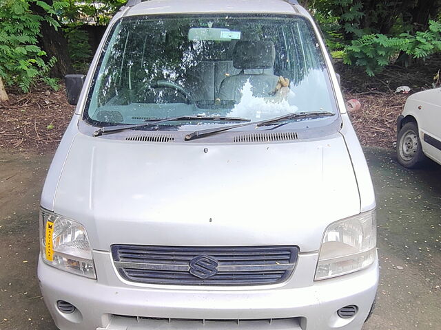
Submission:
<svg viewBox="0 0 441 330">
<path fill-rule="evenodd" d="M 397 120 L 398 162 L 420 166 L 426 156 L 441 164 L 441 88 L 410 96 Z"/>
</svg>

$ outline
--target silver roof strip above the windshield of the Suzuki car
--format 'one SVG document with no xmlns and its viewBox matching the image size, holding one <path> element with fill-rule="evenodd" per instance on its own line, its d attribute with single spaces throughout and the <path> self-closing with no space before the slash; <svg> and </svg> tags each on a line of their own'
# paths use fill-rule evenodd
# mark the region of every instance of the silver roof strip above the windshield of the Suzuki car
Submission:
<svg viewBox="0 0 441 330">
<path fill-rule="evenodd" d="M 131 0 L 123 16 L 145 14 L 300 14 L 295 0 Z M 299 11 L 300 10 L 300 11 Z"/>
</svg>

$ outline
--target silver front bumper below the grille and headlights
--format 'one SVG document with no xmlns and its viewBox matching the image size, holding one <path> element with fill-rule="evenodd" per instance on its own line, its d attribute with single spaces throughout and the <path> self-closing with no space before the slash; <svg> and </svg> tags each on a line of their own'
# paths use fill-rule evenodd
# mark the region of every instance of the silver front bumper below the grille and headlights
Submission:
<svg viewBox="0 0 441 330">
<path fill-rule="evenodd" d="M 314 282 L 317 258 L 316 253 L 300 254 L 289 281 L 259 287 L 127 283 L 114 269 L 110 253 L 96 251 L 98 280 L 57 270 L 41 257 L 38 277 L 45 303 L 61 330 L 361 329 L 376 296 L 378 258 L 360 272 Z M 77 310 L 61 313 L 58 300 Z M 349 319 L 338 317 L 336 311 L 347 305 L 358 306 L 358 313 Z"/>
</svg>

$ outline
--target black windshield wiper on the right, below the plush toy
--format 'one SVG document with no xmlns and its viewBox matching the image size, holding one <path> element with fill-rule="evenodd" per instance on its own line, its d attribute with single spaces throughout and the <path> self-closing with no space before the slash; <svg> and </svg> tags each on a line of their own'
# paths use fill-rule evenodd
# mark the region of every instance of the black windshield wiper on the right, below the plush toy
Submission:
<svg viewBox="0 0 441 330">
<path fill-rule="evenodd" d="M 287 115 L 281 115 L 280 117 L 267 119 L 267 120 L 260 120 L 258 122 L 246 122 L 245 124 L 229 125 L 229 126 L 223 126 L 223 127 L 216 127 L 214 129 L 203 129 L 201 131 L 195 131 L 193 133 L 189 133 L 189 134 L 185 135 L 185 141 L 190 141 L 190 140 L 198 139 L 201 137 L 213 135 L 216 133 L 228 131 L 229 129 L 236 129 L 236 127 L 256 125 L 256 128 L 257 128 L 260 126 L 271 126 L 271 125 L 280 124 L 280 122 L 283 122 L 286 120 L 299 119 L 299 118 L 325 117 L 325 116 L 331 116 L 331 115 L 335 115 L 335 113 L 325 112 L 325 111 L 291 112 L 291 113 L 288 113 Z"/>
</svg>

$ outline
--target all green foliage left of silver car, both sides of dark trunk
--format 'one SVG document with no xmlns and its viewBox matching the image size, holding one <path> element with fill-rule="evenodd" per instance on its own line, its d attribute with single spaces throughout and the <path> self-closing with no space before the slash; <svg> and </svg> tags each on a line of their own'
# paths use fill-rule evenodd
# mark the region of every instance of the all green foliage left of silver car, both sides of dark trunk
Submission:
<svg viewBox="0 0 441 330">
<path fill-rule="evenodd" d="M 84 23 L 107 24 L 125 0 L 0 0 L 0 77 L 7 86 L 30 91 L 38 81 L 54 89 L 57 80 L 50 78 L 50 70 L 57 62 L 39 44 L 41 24 L 47 22 L 56 30 L 63 28 L 74 67 L 85 71 L 92 51 L 88 34 L 81 30 Z M 32 11 L 37 5 L 37 14 Z M 60 23 L 63 27 L 60 26 Z"/>
</svg>

